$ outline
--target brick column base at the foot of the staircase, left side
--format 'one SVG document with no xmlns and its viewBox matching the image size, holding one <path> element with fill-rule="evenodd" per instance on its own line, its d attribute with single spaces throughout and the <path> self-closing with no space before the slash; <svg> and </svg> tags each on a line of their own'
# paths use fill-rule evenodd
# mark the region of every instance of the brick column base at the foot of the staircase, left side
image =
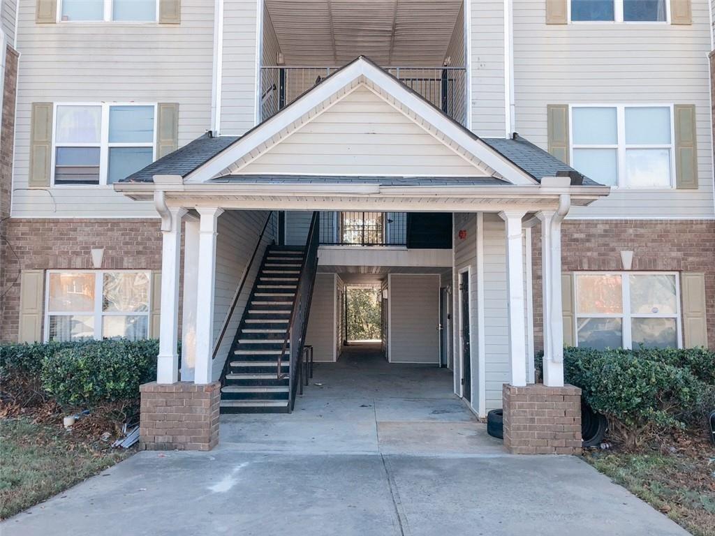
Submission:
<svg viewBox="0 0 715 536">
<path fill-rule="evenodd" d="M 146 383 L 139 390 L 139 446 L 145 450 L 211 450 L 219 442 L 221 384 Z"/>
</svg>

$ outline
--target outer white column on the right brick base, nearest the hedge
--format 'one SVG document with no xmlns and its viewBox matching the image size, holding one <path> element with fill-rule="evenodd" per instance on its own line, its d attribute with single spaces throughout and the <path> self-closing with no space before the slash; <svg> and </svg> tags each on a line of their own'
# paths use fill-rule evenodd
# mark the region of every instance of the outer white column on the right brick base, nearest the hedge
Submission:
<svg viewBox="0 0 715 536">
<path fill-rule="evenodd" d="M 563 310 L 561 306 L 561 217 L 540 212 L 543 290 L 543 383 L 563 386 Z"/>
</svg>

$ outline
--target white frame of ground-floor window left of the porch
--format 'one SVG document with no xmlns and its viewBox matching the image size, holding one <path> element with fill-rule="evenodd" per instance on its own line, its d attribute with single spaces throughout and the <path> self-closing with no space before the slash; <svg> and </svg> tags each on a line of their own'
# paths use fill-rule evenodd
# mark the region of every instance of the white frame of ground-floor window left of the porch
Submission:
<svg viewBox="0 0 715 536">
<path fill-rule="evenodd" d="M 51 274 L 94 274 L 94 310 L 93 311 L 50 311 L 49 310 L 49 279 Z M 138 312 L 119 312 L 119 311 L 102 311 L 104 298 L 104 274 L 146 274 L 149 279 L 149 294 L 148 307 L 146 311 Z M 83 316 L 94 317 L 94 339 L 102 340 L 102 318 L 103 317 L 147 317 L 147 338 L 149 338 L 149 329 L 151 329 L 151 314 L 152 314 L 152 272 L 151 270 L 84 270 L 84 269 L 61 269 L 47 270 L 45 272 L 45 299 L 44 299 L 44 342 L 49 342 L 49 317 L 51 316 Z"/>
</svg>

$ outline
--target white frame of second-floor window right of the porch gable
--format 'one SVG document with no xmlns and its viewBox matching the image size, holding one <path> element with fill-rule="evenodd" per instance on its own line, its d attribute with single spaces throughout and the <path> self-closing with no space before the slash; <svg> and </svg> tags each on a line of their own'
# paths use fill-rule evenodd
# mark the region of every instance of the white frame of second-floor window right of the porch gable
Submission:
<svg viewBox="0 0 715 536">
<path fill-rule="evenodd" d="M 616 144 L 574 144 L 573 142 L 573 109 L 574 108 L 615 108 L 616 109 Z M 670 144 L 626 144 L 626 108 L 667 108 L 670 110 Z M 675 117 L 673 104 L 569 104 L 568 106 L 568 158 L 573 164 L 574 149 L 616 149 L 616 184 L 611 188 L 643 191 L 662 192 L 663 190 L 675 189 L 676 169 L 675 169 Z M 638 187 L 628 185 L 626 177 L 626 151 L 628 149 L 668 149 L 670 151 L 670 184 L 663 187 Z M 591 177 L 598 181 L 598 177 Z"/>
</svg>

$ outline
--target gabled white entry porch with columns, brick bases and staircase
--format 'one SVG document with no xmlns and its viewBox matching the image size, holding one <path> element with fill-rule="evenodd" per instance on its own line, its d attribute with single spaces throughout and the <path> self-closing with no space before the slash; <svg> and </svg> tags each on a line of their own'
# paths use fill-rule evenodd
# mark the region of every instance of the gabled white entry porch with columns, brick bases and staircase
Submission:
<svg viewBox="0 0 715 536">
<path fill-rule="evenodd" d="M 186 393 L 204 393 L 198 405 L 206 411 L 198 420 L 207 423 L 207 448 L 217 441 L 218 407 L 255 406 L 237 401 L 239 394 L 287 394 L 285 409 L 295 405 L 321 258 L 327 262 L 323 269 L 332 266 L 338 273 L 347 264 L 391 271 L 389 259 L 430 257 L 425 250 L 415 253 L 409 232 L 404 246 L 371 249 L 375 240 L 368 235 L 376 227 L 364 216 L 357 243 L 355 217 L 343 218 L 342 233 L 332 234 L 341 242 L 337 251 L 325 249 L 321 235 L 330 229 L 321 228 L 321 213 L 406 214 L 406 221 L 414 214 L 449 214 L 452 260 L 445 250 L 435 252 L 432 267 L 440 269 L 433 273 L 448 274 L 444 286 L 451 288 L 444 308 L 451 318 L 453 392 L 480 417 L 494 408 L 507 410 L 510 401 L 519 417 L 521 406 L 531 408 L 534 400 L 550 400 L 535 410 L 543 415 L 551 403 L 578 405 L 578 393 L 563 387 L 561 222 L 570 207 L 590 204 L 608 194 L 608 187 L 516 134 L 475 137 L 368 59 L 355 59 L 244 136 L 201 137 L 114 188 L 132 199 L 153 199 L 162 217 L 159 367 L 157 383 L 145 388 L 147 415 L 159 415 L 149 411 L 155 409 L 149 399 L 162 393 L 174 393 L 174 407 L 189 406 Z M 286 245 L 281 227 L 285 235 L 300 227 L 287 223 L 292 213 L 310 218 L 301 231 L 305 242 Z M 527 240 L 536 224 L 543 244 L 545 357 L 544 384 L 535 387 L 532 399 L 534 276 Z M 380 236 L 386 242 L 390 232 L 383 229 Z M 365 249 L 356 255 L 355 247 Z M 422 308 L 399 314 L 409 321 Z M 433 329 L 436 334 L 438 327 Z M 397 343 L 388 341 L 388 357 Z M 575 430 L 580 413 L 563 411 L 562 420 L 570 419 Z M 180 427 L 180 417 L 184 434 L 164 434 L 164 421 L 147 420 L 154 426 L 147 428 L 147 446 L 194 437 Z M 522 439 L 536 437 L 526 433 L 527 424 L 506 418 L 507 428 L 523 425 L 523 433 L 506 434 L 508 448 L 518 450 Z M 548 425 L 563 432 L 564 422 Z M 576 440 L 563 441 L 555 439 L 541 451 L 576 448 Z M 528 448 L 536 449 L 536 443 Z"/>
</svg>

